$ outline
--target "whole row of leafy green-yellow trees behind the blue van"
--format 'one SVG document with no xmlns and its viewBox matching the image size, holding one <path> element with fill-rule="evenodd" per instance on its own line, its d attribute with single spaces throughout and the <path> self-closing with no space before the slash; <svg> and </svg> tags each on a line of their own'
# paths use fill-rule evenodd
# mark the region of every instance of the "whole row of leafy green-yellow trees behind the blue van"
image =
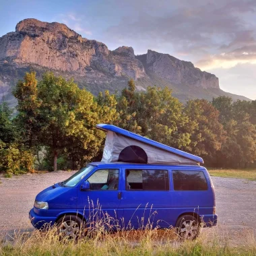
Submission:
<svg viewBox="0 0 256 256">
<path fill-rule="evenodd" d="M 255 164 L 256 101 L 220 96 L 183 105 L 168 88 L 135 88 L 131 79 L 121 94 L 106 90 L 94 97 L 73 80 L 44 73 L 38 82 L 36 73 L 26 73 L 14 91 L 17 117 L 0 105 L 0 170 L 32 171 L 34 156 L 40 168 L 53 170 L 100 160 L 105 135 L 95 128 L 98 123 L 197 154 L 208 166 Z"/>
</svg>

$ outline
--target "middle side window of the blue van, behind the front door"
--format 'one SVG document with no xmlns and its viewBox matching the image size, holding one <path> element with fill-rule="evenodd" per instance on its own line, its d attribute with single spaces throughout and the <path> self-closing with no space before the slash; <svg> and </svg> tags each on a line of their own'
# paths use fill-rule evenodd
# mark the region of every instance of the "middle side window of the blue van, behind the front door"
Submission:
<svg viewBox="0 0 256 256">
<path fill-rule="evenodd" d="M 126 170 L 126 190 L 169 190 L 168 170 Z"/>
</svg>

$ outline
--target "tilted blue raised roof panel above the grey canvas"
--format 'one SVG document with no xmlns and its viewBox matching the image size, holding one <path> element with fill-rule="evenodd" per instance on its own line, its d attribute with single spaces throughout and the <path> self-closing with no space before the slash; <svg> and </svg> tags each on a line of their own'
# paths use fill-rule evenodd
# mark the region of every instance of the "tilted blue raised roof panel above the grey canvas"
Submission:
<svg viewBox="0 0 256 256">
<path fill-rule="evenodd" d="M 159 143 L 157 141 L 154 141 L 152 139 L 148 139 L 148 138 L 143 137 L 141 135 L 138 135 L 136 133 L 132 133 L 131 131 L 121 129 L 121 128 L 115 126 L 115 125 L 100 124 L 100 125 L 96 125 L 96 127 L 98 129 L 103 130 L 103 131 L 113 131 L 114 133 L 119 133 L 119 134 L 121 134 L 123 136 L 126 136 L 126 137 L 129 137 L 131 139 L 141 141 L 141 142 L 146 143 L 150 146 L 154 146 L 154 147 L 159 148 L 161 150 L 166 150 L 166 151 L 171 152 L 173 154 L 177 154 L 179 156 L 183 156 L 184 158 L 188 158 L 190 160 L 193 160 L 195 162 L 199 162 L 199 163 L 203 164 L 203 158 L 200 158 L 199 156 L 195 156 L 193 154 L 189 154 L 187 152 L 177 150 L 176 148 L 172 148 L 170 146 L 166 146 L 166 145 L 164 145 L 162 143 Z"/>
</svg>

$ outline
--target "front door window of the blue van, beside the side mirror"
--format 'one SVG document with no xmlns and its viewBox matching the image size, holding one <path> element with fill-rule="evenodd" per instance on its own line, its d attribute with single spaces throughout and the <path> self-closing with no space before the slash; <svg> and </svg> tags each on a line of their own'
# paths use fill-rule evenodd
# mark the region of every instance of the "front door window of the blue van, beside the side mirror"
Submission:
<svg viewBox="0 0 256 256">
<path fill-rule="evenodd" d="M 90 190 L 117 190 L 119 185 L 119 170 L 96 170 L 88 181 L 90 183 Z"/>
</svg>

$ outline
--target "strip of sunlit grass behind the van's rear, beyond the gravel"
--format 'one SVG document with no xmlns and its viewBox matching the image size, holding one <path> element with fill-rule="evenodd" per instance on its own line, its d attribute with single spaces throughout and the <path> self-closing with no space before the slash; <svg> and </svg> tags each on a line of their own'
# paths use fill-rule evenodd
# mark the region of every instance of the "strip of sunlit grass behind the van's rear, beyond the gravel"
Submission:
<svg viewBox="0 0 256 256">
<path fill-rule="evenodd" d="M 211 169 L 209 168 L 208 171 L 210 172 L 211 176 L 248 179 L 250 181 L 256 181 L 256 169 Z"/>
</svg>

